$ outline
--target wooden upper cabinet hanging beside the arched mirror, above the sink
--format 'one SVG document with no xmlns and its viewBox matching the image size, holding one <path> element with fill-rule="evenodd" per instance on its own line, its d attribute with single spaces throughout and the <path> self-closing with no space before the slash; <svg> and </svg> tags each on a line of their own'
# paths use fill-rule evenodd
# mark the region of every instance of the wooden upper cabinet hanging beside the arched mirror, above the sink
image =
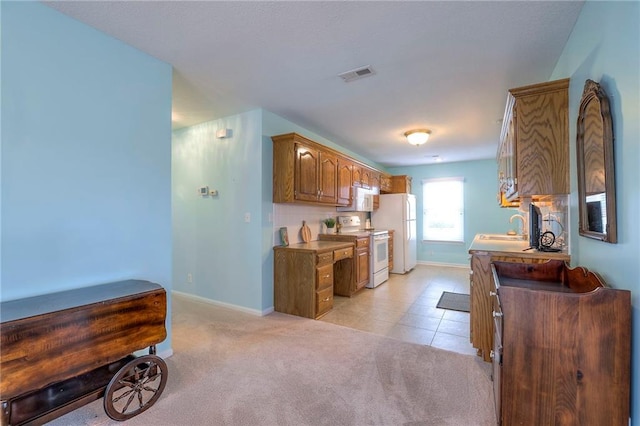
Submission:
<svg viewBox="0 0 640 426">
<path fill-rule="evenodd" d="M 569 193 L 569 79 L 509 90 L 498 148 L 499 202 Z"/>
</svg>

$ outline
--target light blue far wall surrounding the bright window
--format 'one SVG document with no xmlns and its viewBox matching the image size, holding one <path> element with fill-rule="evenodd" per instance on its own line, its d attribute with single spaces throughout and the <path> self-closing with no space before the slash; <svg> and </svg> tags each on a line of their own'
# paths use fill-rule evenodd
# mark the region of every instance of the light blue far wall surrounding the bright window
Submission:
<svg viewBox="0 0 640 426">
<path fill-rule="evenodd" d="M 498 142 L 496 141 L 496 146 Z M 500 208 L 496 201 L 498 169 L 495 160 L 464 161 L 425 166 L 394 167 L 393 175 L 413 178 L 416 195 L 418 262 L 469 265 L 469 246 L 476 234 L 518 230 L 519 221 L 509 223 L 517 209 Z M 422 241 L 422 180 L 443 177 L 464 177 L 464 243 Z"/>
</svg>

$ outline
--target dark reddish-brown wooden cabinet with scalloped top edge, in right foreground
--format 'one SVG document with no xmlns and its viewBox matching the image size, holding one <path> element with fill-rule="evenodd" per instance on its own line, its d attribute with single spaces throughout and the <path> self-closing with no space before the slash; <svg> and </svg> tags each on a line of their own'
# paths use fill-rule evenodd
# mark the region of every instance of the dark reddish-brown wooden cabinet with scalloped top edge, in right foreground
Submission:
<svg viewBox="0 0 640 426">
<path fill-rule="evenodd" d="M 631 293 L 557 260 L 492 271 L 498 423 L 626 426 Z"/>
</svg>

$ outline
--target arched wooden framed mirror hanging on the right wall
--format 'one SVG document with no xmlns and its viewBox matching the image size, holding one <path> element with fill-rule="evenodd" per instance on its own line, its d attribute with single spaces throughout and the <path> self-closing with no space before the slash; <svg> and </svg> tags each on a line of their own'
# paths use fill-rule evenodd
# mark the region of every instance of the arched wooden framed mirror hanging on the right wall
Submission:
<svg viewBox="0 0 640 426">
<path fill-rule="evenodd" d="M 584 237 L 617 242 L 613 124 L 607 94 L 587 80 L 578 111 L 578 230 Z"/>
</svg>

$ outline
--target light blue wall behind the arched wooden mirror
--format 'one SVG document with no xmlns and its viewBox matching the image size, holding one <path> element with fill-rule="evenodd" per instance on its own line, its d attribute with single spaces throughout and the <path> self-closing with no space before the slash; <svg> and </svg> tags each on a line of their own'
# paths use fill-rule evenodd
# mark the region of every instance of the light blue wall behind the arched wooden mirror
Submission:
<svg viewBox="0 0 640 426">
<path fill-rule="evenodd" d="M 572 161 L 572 264 L 598 272 L 614 288 L 631 290 L 632 424 L 640 425 L 640 3 L 587 1 L 552 75 L 552 79 L 564 77 L 571 78 L 572 159 L 585 80 L 599 82 L 611 103 L 618 243 L 578 235 L 577 172 Z"/>
</svg>

